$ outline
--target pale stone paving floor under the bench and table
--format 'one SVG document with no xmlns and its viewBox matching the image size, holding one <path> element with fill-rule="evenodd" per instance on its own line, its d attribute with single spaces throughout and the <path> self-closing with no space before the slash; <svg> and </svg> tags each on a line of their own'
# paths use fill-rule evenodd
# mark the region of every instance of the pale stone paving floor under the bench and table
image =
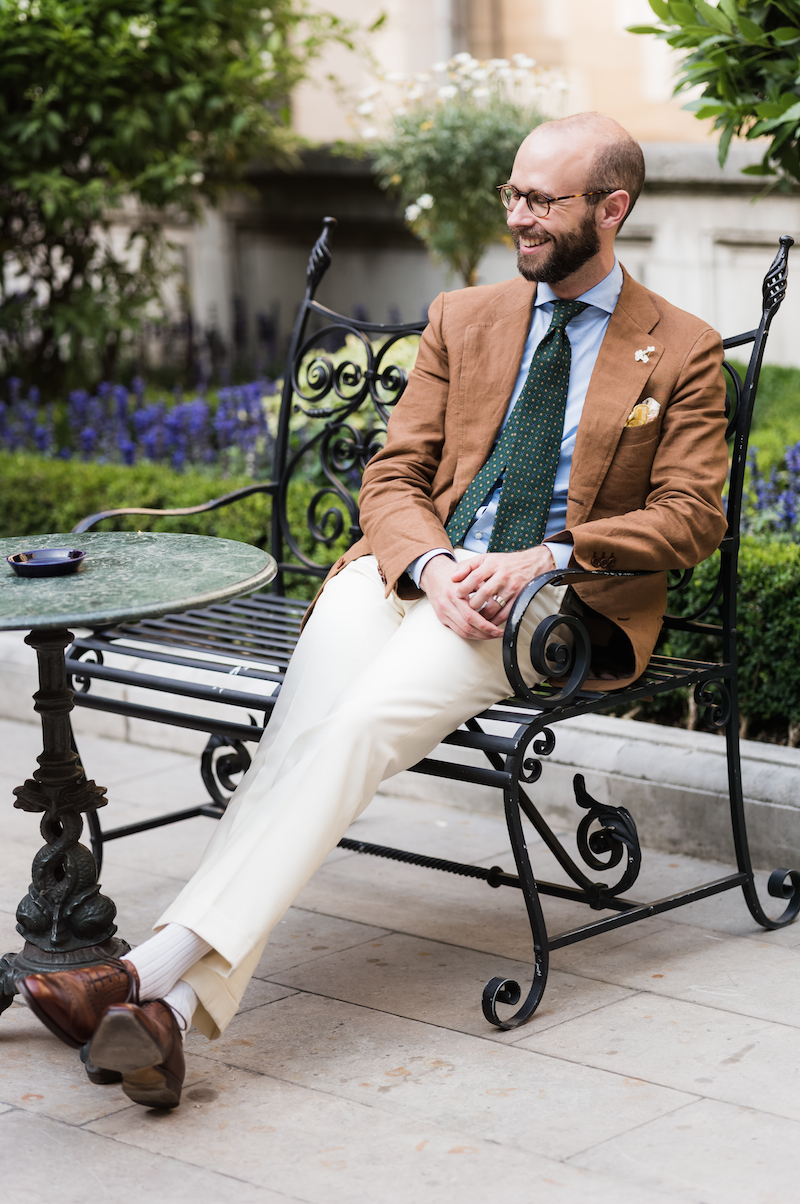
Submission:
<svg viewBox="0 0 800 1204">
<path fill-rule="evenodd" d="M 11 789 L 39 728 L 0 721 L 0 944 L 40 845 Z M 104 818 L 202 797 L 196 761 L 83 737 Z M 107 819 L 106 819 L 107 821 Z M 120 934 L 143 939 L 212 830 L 106 846 Z M 494 815 L 378 796 L 366 840 L 512 868 Z M 535 866 L 555 877 L 531 844 Z M 646 857 L 658 897 L 725 867 Z M 761 875 L 764 879 L 766 875 Z M 763 885 L 763 881 L 761 881 Z M 545 901 L 558 931 L 584 909 Z M 528 981 L 516 891 L 335 850 L 278 926 L 225 1035 L 187 1040 L 183 1104 L 92 1086 L 14 1004 L 0 1017 L 0 1202 L 772 1204 L 800 1178 L 800 925 L 764 934 L 730 892 L 553 955 L 522 1029 L 481 1015 L 495 974 Z"/>
</svg>

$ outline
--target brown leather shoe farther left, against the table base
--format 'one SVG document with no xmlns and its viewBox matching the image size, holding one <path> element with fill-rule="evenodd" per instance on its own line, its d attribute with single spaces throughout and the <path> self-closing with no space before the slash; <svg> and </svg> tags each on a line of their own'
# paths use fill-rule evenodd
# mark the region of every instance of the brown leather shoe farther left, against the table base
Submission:
<svg viewBox="0 0 800 1204">
<path fill-rule="evenodd" d="M 139 999 L 139 975 L 130 962 L 110 957 L 99 966 L 29 974 L 17 988 L 51 1033 L 80 1050 L 94 1037 L 107 1008 Z"/>
</svg>

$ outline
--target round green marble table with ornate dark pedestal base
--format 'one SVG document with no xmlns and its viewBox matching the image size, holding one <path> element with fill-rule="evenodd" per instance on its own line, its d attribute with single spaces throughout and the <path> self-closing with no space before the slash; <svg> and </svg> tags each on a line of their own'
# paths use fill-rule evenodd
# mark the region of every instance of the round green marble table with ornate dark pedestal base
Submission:
<svg viewBox="0 0 800 1204">
<path fill-rule="evenodd" d="M 67 577 L 17 577 L 16 551 L 80 548 L 87 556 Z M 43 749 L 14 807 L 42 811 L 45 846 L 34 857 L 31 885 L 17 908 L 22 952 L 0 958 L 0 1011 L 16 981 L 34 970 L 86 966 L 128 950 L 114 936 L 116 907 L 100 893 L 92 852 L 80 843 L 83 813 L 106 803 L 105 787 L 86 778 L 72 746 L 64 650 L 70 627 L 102 627 L 175 614 L 251 594 L 272 580 L 273 559 L 234 539 L 151 532 L 87 532 L 0 539 L 0 630 L 28 631 L 36 651 Z M 20 700 L 20 707 L 23 706 Z"/>
</svg>

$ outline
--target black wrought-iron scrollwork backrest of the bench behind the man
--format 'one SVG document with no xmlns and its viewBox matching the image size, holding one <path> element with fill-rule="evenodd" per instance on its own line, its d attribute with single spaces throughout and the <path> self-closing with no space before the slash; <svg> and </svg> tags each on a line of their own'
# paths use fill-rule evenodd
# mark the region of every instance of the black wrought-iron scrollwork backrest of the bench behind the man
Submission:
<svg viewBox="0 0 800 1204">
<path fill-rule="evenodd" d="M 367 460 L 383 441 L 386 424 L 407 383 L 408 346 L 424 321 L 381 324 L 334 313 L 316 293 L 331 261 L 325 218 L 314 243 L 306 291 L 294 326 L 281 400 L 272 509 L 272 555 L 280 572 L 275 589 L 292 590 L 292 578 L 325 576 L 334 560 L 360 535 L 358 488 Z M 728 439 L 731 467 L 727 491 L 728 532 L 720 544 L 716 588 L 704 607 L 688 616 L 667 615 L 666 626 L 723 635 L 735 627 L 739 529 L 747 466 L 747 445 L 758 379 L 770 325 L 786 295 L 793 238 L 783 235 L 764 277 L 759 325 L 724 340 L 725 350 L 751 347 L 743 378 L 725 361 L 730 380 Z M 402 354 L 400 354 L 402 353 Z M 301 425 L 298 427 L 298 420 Z M 678 594 L 692 578 L 680 574 Z M 722 603 L 723 626 L 701 620 Z M 728 659 L 728 657 L 725 657 Z"/>
</svg>

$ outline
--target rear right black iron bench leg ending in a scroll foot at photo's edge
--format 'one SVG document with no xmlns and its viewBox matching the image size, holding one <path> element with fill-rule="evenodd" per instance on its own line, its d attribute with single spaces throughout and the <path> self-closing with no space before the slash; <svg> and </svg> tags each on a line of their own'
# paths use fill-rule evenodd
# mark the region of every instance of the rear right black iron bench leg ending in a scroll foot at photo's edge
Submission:
<svg viewBox="0 0 800 1204">
<path fill-rule="evenodd" d="M 711 721 L 725 728 L 728 745 L 728 793 L 730 797 L 730 822 L 736 849 L 736 863 L 741 873 L 747 874 L 742 885 L 745 902 L 751 915 L 763 928 L 783 928 L 792 923 L 800 913 L 800 870 L 775 869 L 767 881 L 767 891 L 772 898 L 786 899 L 787 905 L 781 915 L 772 919 L 761 907 L 755 890 L 753 862 L 747 840 L 747 822 L 745 819 L 745 798 L 742 793 L 742 768 L 739 748 L 739 695 L 736 681 L 700 683 L 694 691 L 699 707 L 706 709 Z"/>
</svg>

